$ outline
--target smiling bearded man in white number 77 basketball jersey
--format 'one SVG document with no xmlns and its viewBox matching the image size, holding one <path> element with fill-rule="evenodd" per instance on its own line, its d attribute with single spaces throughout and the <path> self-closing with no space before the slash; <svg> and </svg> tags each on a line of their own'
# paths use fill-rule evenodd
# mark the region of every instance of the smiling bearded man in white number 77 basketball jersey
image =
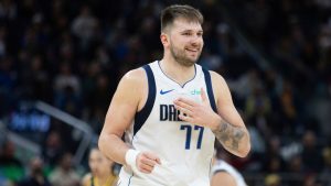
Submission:
<svg viewBox="0 0 331 186">
<path fill-rule="evenodd" d="M 166 8 L 163 58 L 120 80 L 98 142 L 102 152 L 125 165 L 120 186 L 210 185 L 215 136 L 237 156 L 249 152 L 249 134 L 225 80 L 195 64 L 202 23 L 190 6 Z"/>
</svg>

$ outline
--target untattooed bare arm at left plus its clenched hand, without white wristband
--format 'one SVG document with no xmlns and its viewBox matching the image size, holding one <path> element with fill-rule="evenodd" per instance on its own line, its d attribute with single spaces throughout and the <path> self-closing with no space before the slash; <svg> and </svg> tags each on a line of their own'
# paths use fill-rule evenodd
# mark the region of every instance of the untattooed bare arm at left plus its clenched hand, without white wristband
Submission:
<svg viewBox="0 0 331 186">
<path fill-rule="evenodd" d="M 129 146 L 121 140 L 124 132 L 129 129 L 134 117 L 147 99 L 148 83 L 142 68 L 127 73 L 118 84 L 117 90 L 108 108 L 105 123 L 99 136 L 100 151 L 113 161 L 126 165 L 126 153 Z M 156 164 L 156 157 L 148 152 L 137 156 L 137 168 L 150 173 Z"/>
</svg>

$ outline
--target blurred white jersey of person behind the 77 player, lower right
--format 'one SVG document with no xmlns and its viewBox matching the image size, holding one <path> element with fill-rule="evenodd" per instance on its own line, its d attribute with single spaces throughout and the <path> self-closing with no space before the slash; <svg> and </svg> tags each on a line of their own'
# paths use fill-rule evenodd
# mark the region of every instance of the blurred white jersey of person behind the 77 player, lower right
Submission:
<svg viewBox="0 0 331 186">
<path fill-rule="evenodd" d="M 247 186 L 242 174 L 237 169 L 235 169 L 232 165 L 229 165 L 228 163 L 222 160 L 217 160 L 216 163 L 214 164 L 212 168 L 212 176 L 217 172 L 226 172 L 229 175 L 232 175 L 237 186 Z"/>
</svg>

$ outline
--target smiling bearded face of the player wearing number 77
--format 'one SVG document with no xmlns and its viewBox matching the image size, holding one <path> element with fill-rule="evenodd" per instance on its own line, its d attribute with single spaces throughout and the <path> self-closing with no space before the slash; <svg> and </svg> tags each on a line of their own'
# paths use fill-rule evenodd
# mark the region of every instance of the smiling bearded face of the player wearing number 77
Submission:
<svg viewBox="0 0 331 186">
<path fill-rule="evenodd" d="M 183 66 L 192 66 L 203 48 L 203 31 L 199 22 L 177 19 L 170 31 L 169 50 L 172 57 Z"/>
</svg>

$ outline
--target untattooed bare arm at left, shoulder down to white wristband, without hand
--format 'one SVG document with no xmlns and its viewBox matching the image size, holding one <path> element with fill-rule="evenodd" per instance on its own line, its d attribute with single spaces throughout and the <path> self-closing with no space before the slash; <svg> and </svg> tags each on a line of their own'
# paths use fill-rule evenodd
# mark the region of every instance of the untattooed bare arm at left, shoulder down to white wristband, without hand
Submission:
<svg viewBox="0 0 331 186">
<path fill-rule="evenodd" d="M 126 163 L 125 154 L 129 149 L 122 142 L 121 136 L 137 112 L 141 99 L 139 85 L 143 85 L 141 77 L 143 77 L 141 69 L 131 70 L 122 77 L 111 99 L 99 136 L 100 151 L 120 164 Z"/>
</svg>

